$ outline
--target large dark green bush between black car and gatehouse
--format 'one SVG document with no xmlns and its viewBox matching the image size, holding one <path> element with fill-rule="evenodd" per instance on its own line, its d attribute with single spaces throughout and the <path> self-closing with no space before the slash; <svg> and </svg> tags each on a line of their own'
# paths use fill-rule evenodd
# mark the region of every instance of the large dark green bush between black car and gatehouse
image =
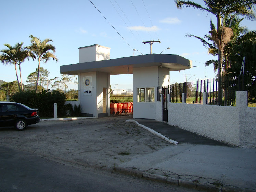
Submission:
<svg viewBox="0 0 256 192">
<path fill-rule="evenodd" d="M 17 92 L 10 101 L 22 103 L 30 108 L 38 108 L 39 115 L 44 117 L 53 117 L 53 104 L 57 103 L 57 115 L 63 115 L 65 112 L 66 96 L 60 91 L 43 91 L 35 92 L 34 90 L 27 90 L 24 92 Z"/>
</svg>

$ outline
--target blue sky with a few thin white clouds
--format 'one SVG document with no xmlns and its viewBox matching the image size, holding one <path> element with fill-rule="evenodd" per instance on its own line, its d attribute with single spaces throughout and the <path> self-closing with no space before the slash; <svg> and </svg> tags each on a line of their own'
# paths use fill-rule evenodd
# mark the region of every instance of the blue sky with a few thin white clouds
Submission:
<svg viewBox="0 0 256 192">
<path fill-rule="evenodd" d="M 97 7 L 97 9 L 92 3 Z M 217 59 L 207 53 L 202 43 L 186 34 L 203 37 L 210 31 L 211 13 L 193 8 L 177 9 L 173 0 L 14 0 L 1 2 L 0 49 L 4 44 L 14 46 L 30 44 L 32 34 L 44 40 L 52 39 L 59 61 L 49 60 L 40 67 L 50 72 L 50 78 L 60 77 L 60 66 L 79 62 L 79 47 L 99 44 L 110 47 L 110 59 L 150 54 L 150 44 L 142 41 L 160 40 L 154 43 L 152 53 L 176 54 L 192 60 L 192 67 L 185 71 L 170 72 L 170 84 L 197 79 L 215 78 L 213 66 L 204 63 Z M 203 1 L 195 0 L 201 5 Z M 105 19 L 103 16 L 107 19 Z M 255 21 L 244 19 L 242 25 L 256 30 Z M 114 28 L 113 28 L 113 27 Z M 119 35 L 120 34 L 120 35 Z M 170 47 L 170 49 L 166 49 Z M 139 50 L 133 51 L 133 49 Z M 166 49 L 166 50 L 165 50 Z M 141 53 L 140 53 L 141 52 Z M 22 80 L 36 70 L 37 61 L 26 60 L 21 64 Z M 206 76 L 206 77 L 205 77 Z M 12 65 L 0 63 L 0 80 L 17 80 Z M 132 89 L 132 74 L 112 75 L 112 88 Z M 78 89 L 78 85 L 69 84 Z"/>
</svg>

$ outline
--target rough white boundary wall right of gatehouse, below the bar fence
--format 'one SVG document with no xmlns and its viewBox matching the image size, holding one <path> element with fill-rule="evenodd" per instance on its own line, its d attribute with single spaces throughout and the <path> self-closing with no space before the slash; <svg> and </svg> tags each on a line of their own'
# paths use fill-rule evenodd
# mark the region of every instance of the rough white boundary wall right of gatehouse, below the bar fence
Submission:
<svg viewBox="0 0 256 192">
<path fill-rule="evenodd" d="M 236 92 L 235 107 L 168 102 L 168 124 L 231 145 L 256 147 L 256 107 L 247 107 L 246 91 Z"/>
</svg>

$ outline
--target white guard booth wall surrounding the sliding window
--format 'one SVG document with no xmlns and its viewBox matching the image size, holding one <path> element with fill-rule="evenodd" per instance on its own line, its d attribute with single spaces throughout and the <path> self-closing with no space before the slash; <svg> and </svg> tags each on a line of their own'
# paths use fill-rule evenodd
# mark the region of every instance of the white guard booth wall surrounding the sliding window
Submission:
<svg viewBox="0 0 256 192">
<path fill-rule="evenodd" d="M 158 66 L 133 68 L 133 118 L 156 119 Z M 137 88 L 154 87 L 155 102 L 137 102 Z"/>
</svg>

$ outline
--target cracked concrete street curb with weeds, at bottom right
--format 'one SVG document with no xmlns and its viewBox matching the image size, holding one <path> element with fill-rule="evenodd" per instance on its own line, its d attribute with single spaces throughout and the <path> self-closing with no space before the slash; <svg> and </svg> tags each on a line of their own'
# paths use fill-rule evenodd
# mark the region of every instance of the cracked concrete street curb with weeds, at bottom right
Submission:
<svg viewBox="0 0 256 192">
<path fill-rule="evenodd" d="M 127 167 L 114 167 L 113 171 L 117 171 L 119 173 L 137 176 L 139 178 L 144 178 L 148 180 L 163 182 L 171 185 L 183 186 L 187 188 L 199 189 L 199 190 L 207 190 L 211 192 L 256 192 L 253 189 L 246 189 L 241 187 L 229 186 L 229 185 L 214 185 L 207 182 L 197 183 L 192 181 L 191 179 L 177 179 L 173 177 L 167 177 L 157 174 L 152 174 L 147 172 L 146 170 L 140 170 L 137 168 L 127 168 Z"/>
</svg>

